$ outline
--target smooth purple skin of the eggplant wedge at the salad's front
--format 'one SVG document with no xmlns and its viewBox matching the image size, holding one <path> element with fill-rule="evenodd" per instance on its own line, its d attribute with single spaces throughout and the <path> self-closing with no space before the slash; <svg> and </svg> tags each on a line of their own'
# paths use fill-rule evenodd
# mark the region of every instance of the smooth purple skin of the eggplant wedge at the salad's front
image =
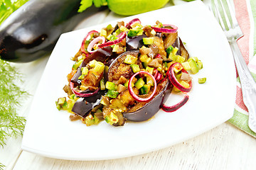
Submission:
<svg viewBox="0 0 256 170">
<path fill-rule="evenodd" d="M 139 108 L 139 110 L 132 113 L 123 113 L 124 118 L 133 122 L 143 122 L 152 118 L 161 108 L 161 103 L 164 102 L 171 94 L 171 86 L 168 79 L 166 81 L 166 86 L 160 91 L 160 93 L 154 97 L 149 103 L 146 103 L 145 106 Z"/>
</svg>

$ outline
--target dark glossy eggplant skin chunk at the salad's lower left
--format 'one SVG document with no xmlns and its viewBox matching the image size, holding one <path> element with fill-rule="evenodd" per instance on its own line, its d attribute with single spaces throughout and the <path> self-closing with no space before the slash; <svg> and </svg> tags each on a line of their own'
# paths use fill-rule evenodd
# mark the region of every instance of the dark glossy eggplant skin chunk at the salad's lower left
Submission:
<svg viewBox="0 0 256 170">
<path fill-rule="evenodd" d="M 100 104 L 102 96 L 105 94 L 106 91 L 99 91 L 94 96 L 79 98 L 78 101 L 75 101 L 72 111 L 82 118 L 85 118 L 93 108 Z"/>
</svg>

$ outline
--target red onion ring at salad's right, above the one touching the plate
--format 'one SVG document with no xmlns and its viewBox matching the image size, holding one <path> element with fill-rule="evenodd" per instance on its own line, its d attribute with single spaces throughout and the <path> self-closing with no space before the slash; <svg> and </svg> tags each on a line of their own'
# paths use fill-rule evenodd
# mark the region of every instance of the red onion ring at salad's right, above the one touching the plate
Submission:
<svg viewBox="0 0 256 170">
<path fill-rule="evenodd" d="M 171 81 L 171 84 L 173 84 L 174 86 L 176 86 L 177 89 L 179 89 L 180 91 L 183 91 L 183 92 L 189 92 L 191 91 L 191 88 L 192 88 L 192 81 L 189 81 L 189 88 L 186 88 L 184 86 L 182 86 L 178 80 L 176 79 L 175 77 L 175 74 L 174 74 L 174 67 L 179 64 L 181 67 L 182 65 L 178 62 L 174 63 L 174 64 L 171 64 L 171 66 L 169 67 L 168 69 L 168 75 L 169 75 L 169 80 Z M 181 72 L 185 72 L 188 74 L 188 72 L 186 71 L 186 69 L 181 69 Z"/>
</svg>

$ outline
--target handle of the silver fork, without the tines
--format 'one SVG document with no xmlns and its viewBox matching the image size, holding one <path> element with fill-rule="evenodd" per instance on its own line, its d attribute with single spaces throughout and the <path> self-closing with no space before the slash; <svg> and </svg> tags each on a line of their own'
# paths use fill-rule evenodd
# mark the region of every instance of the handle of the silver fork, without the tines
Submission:
<svg viewBox="0 0 256 170">
<path fill-rule="evenodd" d="M 230 42 L 230 47 L 233 52 L 235 65 L 238 69 L 242 98 L 249 111 L 248 125 L 253 132 L 256 132 L 256 83 L 242 57 L 238 43 L 236 41 Z"/>
</svg>

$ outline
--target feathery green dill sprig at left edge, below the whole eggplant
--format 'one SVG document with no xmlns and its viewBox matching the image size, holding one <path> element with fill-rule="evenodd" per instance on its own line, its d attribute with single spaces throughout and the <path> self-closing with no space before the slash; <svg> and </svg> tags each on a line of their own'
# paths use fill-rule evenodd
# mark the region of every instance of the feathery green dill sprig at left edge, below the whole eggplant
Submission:
<svg viewBox="0 0 256 170">
<path fill-rule="evenodd" d="M 23 135 L 26 119 L 17 113 L 21 101 L 28 96 L 17 83 L 22 75 L 9 62 L 0 60 L 0 145 L 4 147 L 7 137 Z"/>
</svg>

